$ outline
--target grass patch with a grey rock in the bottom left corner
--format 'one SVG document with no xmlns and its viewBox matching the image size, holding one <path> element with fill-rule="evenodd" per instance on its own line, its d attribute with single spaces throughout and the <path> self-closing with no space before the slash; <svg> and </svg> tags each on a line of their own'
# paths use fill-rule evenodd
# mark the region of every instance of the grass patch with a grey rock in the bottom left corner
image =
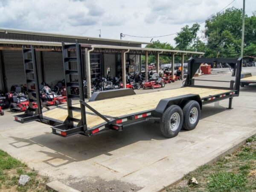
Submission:
<svg viewBox="0 0 256 192">
<path fill-rule="evenodd" d="M 20 175 L 28 175 L 30 180 L 26 185 L 18 184 Z M 38 175 L 35 169 L 29 169 L 25 163 L 11 157 L 5 151 L 0 150 L 0 191 L 18 192 L 45 192 L 45 183 L 49 177 Z"/>
</svg>

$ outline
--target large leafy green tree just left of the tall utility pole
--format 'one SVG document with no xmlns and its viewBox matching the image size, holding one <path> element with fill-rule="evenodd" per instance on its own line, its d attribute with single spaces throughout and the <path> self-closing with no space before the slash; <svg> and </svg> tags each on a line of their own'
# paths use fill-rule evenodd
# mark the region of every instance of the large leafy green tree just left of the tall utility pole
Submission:
<svg viewBox="0 0 256 192">
<path fill-rule="evenodd" d="M 205 24 L 207 38 L 207 56 L 236 57 L 240 55 L 242 10 L 226 9 L 218 13 Z"/>
</svg>

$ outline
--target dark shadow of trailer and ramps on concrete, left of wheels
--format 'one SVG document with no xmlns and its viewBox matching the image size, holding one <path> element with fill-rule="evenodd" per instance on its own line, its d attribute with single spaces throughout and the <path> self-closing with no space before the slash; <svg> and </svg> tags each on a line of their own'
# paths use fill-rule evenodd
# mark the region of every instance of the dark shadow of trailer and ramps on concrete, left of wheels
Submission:
<svg viewBox="0 0 256 192">
<path fill-rule="evenodd" d="M 47 125 L 46 125 L 47 126 Z M 123 131 L 110 131 L 105 134 L 86 137 L 84 135 L 73 135 L 70 137 L 60 137 L 46 132 L 42 135 L 29 139 L 20 137 L 10 137 L 15 142 L 10 143 L 15 148 L 32 148 L 31 145 L 39 145 L 41 150 L 36 150 L 46 154 L 47 163 L 53 167 L 60 167 L 72 162 L 90 160 L 91 158 L 105 154 L 111 156 L 111 151 L 127 147 L 132 143 L 145 140 L 165 140 L 162 136 L 158 124 L 146 122 L 145 124 L 133 125 Z M 50 150 L 44 150 L 45 148 Z"/>
</svg>

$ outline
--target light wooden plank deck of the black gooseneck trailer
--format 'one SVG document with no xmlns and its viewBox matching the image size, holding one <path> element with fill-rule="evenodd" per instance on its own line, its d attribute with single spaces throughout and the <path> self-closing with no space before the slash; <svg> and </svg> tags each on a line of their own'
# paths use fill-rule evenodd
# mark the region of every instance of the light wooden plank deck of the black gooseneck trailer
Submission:
<svg viewBox="0 0 256 192">
<path fill-rule="evenodd" d="M 166 99 L 175 96 L 182 96 L 186 94 L 198 94 L 201 99 L 230 92 L 229 90 L 222 89 L 209 89 L 209 88 L 198 88 L 198 87 L 182 87 L 172 90 L 162 90 L 151 93 L 143 93 L 132 96 L 116 97 L 111 99 L 104 99 L 94 102 L 88 102 L 88 104 L 99 113 L 112 116 L 120 117 L 132 113 L 140 113 L 147 110 L 154 110 L 161 99 Z M 73 105 L 80 107 L 80 104 Z M 88 108 L 87 112 L 92 113 Z M 67 108 L 57 107 L 52 110 L 43 113 L 43 116 L 49 119 L 56 119 L 63 122 L 67 118 Z M 73 117 L 81 119 L 81 113 L 73 111 Z M 86 114 L 87 127 L 92 128 L 105 122 L 102 118 L 92 114 Z"/>
</svg>

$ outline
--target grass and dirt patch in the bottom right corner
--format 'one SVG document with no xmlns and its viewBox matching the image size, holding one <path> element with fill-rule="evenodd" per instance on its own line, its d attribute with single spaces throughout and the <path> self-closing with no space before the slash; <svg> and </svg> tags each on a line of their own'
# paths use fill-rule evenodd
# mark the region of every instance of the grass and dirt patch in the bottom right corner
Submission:
<svg viewBox="0 0 256 192">
<path fill-rule="evenodd" d="M 188 184 L 195 177 L 198 185 Z M 233 154 L 211 165 L 198 167 L 165 192 L 251 192 L 256 191 L 256 136 L 247 139 Z"/>
</svg>

